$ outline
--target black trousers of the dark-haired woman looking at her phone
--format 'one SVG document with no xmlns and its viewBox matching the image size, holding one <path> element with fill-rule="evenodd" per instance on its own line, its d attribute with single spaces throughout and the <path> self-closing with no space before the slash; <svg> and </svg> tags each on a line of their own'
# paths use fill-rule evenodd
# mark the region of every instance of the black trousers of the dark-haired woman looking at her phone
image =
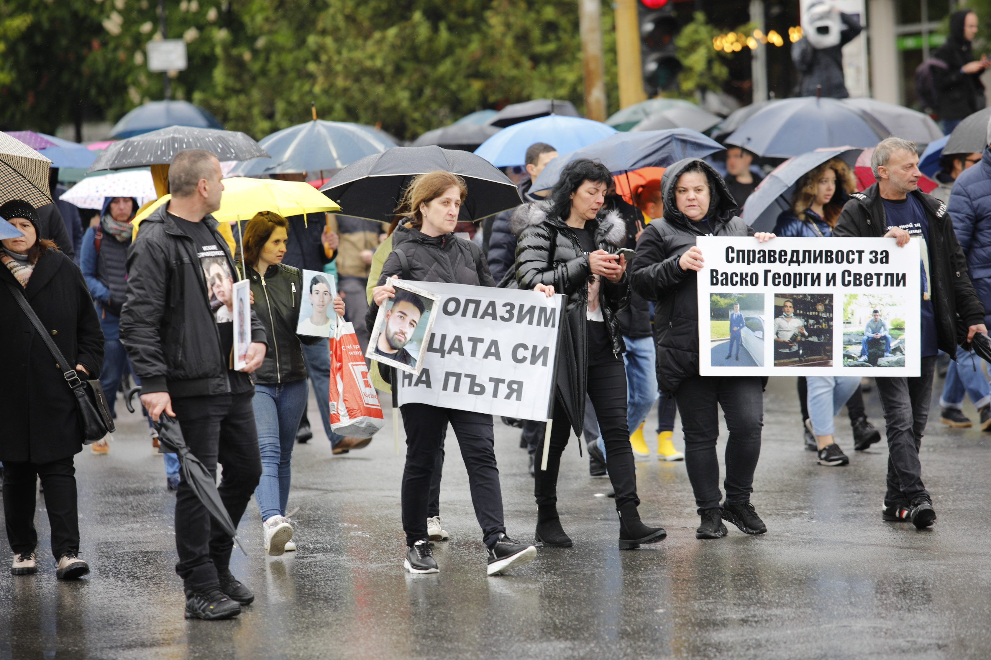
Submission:
<svg viewBox="0 0 991 660">
<path fill-rule="evenodd" d="M 599 429 L 606 444 L 606 470 L 616 494 L 616 509 L 624 504 L 640 505 L 636 497 L 636 468 L 633 465 L 633 448 L 629 444 L 626 427 L 626 367 L 622 359 L 609 359 L 589 365 L 589 398 L 599 418 Z M 588 404 L 587 404 L 588 405 Z M 571 437 L 571 423 L 564 407 L 558 401 L 554 406 L 554 423 L 551 424 L 551 446 L 547 452 L 547 469 L 541 470 L 544 441 L 534 457 L 536 477 L 533 495 L 538 507 L 557 505 L 557 480 L 561 470 L 561 454 Z"/>
</svg>

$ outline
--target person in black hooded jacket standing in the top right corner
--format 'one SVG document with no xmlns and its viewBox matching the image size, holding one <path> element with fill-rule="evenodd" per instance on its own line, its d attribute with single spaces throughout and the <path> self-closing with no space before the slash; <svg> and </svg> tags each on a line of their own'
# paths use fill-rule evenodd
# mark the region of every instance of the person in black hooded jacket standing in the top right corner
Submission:
<svg viewBox="0 0 991 660">
<path fill-rule="evenodd" d="M 991 60 L 987 55 L 974 59 L 973 39 L 977 36 L 977 14 L 961 9 L 949 15 L 949 37 L 933 56 L 946 62 L 946 70 L 936 76 L 939 98 L 937 111 L 942 132 L 952 133 L 964 117 L 984 107 L 984 73 Z"/>
</svg>

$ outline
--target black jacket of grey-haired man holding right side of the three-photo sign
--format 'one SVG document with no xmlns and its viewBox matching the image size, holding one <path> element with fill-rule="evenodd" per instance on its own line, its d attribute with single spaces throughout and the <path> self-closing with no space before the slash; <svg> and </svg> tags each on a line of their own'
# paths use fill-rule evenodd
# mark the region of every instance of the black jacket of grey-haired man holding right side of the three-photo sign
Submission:
<svg viewBox="0 0 991 660">
<path fill-rule="evenodd" d="M 956 345 L 965 340 L 966 329 L 984 323 L 984 306 L 970 283 L 967 260 L 953 233 L 946 205 L 920 190 L 909 194 L 922 202 L 929 221 L 930 291 L 939 350 L 956 359 Z M 881 237 L 887 231 L 884 202 L 875 183 L 863 192 L 850 195 L 832 235 Z"/>
</svg>

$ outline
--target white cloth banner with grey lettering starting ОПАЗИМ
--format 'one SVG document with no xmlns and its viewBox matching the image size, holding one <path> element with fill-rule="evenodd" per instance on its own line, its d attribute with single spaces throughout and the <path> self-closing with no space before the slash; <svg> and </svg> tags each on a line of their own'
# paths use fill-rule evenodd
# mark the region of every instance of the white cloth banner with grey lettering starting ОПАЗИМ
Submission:
<svg viewBox="0 0 991 660">
<path fill-rule="evenodd" d="M 419 374 L 400 374 L 400 406 L 429 404 L 541 422 L 551 417 L 564 296 L 417 285 L 439 302 Z"/>
</svg>

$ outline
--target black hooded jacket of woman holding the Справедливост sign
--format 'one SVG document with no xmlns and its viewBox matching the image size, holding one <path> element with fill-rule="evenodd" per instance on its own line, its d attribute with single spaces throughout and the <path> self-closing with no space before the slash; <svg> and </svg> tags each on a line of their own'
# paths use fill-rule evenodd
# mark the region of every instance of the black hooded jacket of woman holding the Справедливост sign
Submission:
<svg viewBox="0 0 991 660">
<path fill-rule="evenodd" d="M 654 305 L 657 382 L 673 395 L 686 378 L 699 375 L 698 273 L 682 270 L 678 260 L 703 236 L 675 202 L 675 184 L 693 162 L 709 179 L 709 219 L 715 236 L 753 236 L 753 229 L 735 215 L 736 202 L 716 169 L 699 158 L 679 160 L 664 171 L 661 193 L 664 217 L 647 225 L 636 243 L 630 286 Z"/>
</svg>

